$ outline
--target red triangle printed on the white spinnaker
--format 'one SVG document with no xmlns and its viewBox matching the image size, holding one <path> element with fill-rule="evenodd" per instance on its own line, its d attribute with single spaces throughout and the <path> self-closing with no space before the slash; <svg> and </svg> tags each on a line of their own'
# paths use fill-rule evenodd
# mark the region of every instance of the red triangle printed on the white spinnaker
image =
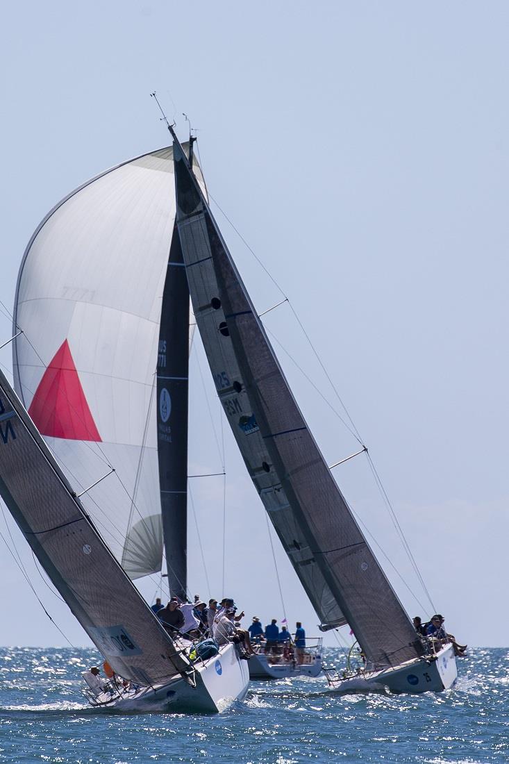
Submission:
<svg viewBox="0 0 509 764">
<path fill-rule="evenodd" d="M 28 409 L 41 435 L 100 441 L 69 343 L 64 340 L 43 374 Z"/>
</svg>

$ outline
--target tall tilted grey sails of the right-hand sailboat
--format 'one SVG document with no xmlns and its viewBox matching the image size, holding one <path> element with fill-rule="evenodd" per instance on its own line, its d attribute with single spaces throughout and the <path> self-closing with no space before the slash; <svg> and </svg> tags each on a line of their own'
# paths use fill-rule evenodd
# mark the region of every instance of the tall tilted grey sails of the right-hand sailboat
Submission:
<svg viewBox="0 0 509 764">
<path fill-rule="evenodd" d="M 324 628 L 348 622 L 366 659 L 420 655 L 412 623 L 362 536 L 180 146 L 177 227 L 199 333 L 232 432 Z"/>
</svg>

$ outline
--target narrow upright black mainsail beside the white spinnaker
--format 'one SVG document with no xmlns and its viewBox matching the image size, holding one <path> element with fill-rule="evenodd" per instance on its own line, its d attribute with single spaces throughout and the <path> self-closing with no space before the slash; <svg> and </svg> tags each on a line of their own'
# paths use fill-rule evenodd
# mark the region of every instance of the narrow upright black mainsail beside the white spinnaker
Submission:
<svg viewBox="0 0 509 764">
<path fill-rule="evenodd" d="M 173 230 L 157 355 L 157 458 L 164 549 L 171 594 L 186 599 L 189 289 Z"/>
</svg>

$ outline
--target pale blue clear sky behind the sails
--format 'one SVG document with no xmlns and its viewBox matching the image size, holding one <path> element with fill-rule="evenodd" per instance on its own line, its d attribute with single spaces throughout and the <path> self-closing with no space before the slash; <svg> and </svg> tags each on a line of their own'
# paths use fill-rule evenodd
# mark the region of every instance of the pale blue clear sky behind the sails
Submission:
<svg viewBox="0 0 509 764">
<path fill-rule="evenodd" d="M 199 128 L 212 198 L 326 364 L 436 609 L 462 641 L 507 645 L 507 4 L 55 0 L 10 4 L 2 21 L 2 302 L 11 308 L 24 247 L 55 202 L 167 143 L 148 95 L 157 90 L 183 138 L 182 112 Z M 217 218 L 258 309 L 277 303 Z M 288 306 L 266 325 L 333 402 Z M 0 344 L 10 330 L 0 316 Z M 329 462 L 355 451 L 280 358 Z M 201 435 L 200 388 L 193 394 Z M 217 465 L 207 442 L 193 447 L 196 468 Z M 232 442 L 227 454 L 226 587 L 249 616 L 280 618 L 264 514 Z M 423 601 L 364 457 L 335 474 Z M 222 487 L 194 490 L 212 593 L 222 594 Z M 47 609 L 85 643 L 10 528 Z M 206 596 L 195 538 L 190 558 L 191 585 Z M 289 620 L 313 631 L 277 559 Z M 61 644 L 6 550 L 0 575 L 9 582 L 0 641 Z M 425 612 L 394 584 L 410 615 Z"/>
</svg>

